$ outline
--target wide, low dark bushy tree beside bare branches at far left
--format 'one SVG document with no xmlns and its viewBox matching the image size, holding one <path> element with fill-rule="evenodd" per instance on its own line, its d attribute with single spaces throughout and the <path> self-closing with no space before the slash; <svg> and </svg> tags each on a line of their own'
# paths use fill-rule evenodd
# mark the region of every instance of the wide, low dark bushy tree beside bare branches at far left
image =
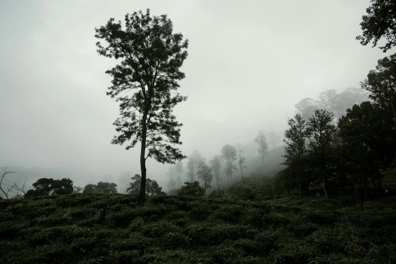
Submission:
<svg viewBox="0 0 396 264">
<path fill-rule="evenodd" d="M 26 196 L 45 196 L 45 195 L 63 195 L 73 192 L 73 181 L 63 178 L 54 180 L 52 178 L 41 178 L 33 183 L 33 188 L 26 192 Z"/>
</svg>

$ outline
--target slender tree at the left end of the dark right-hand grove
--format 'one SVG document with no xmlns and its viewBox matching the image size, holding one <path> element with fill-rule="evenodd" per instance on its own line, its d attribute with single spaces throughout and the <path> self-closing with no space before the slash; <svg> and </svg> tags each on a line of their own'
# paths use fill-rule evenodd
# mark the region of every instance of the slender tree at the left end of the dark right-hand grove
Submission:
<svg viewBox="0 0 396 264">
<path fill-rule="evenodd" d="M 300 114 L 288 120 L 289 129 L 285 130 L 286 143 L 284 162 L 282 164 L 289 166 L 297 175 L 298 195 L 301 196 L 301 165 L 305 156 L 305 138 L 306 124 Z"/>
</svg>

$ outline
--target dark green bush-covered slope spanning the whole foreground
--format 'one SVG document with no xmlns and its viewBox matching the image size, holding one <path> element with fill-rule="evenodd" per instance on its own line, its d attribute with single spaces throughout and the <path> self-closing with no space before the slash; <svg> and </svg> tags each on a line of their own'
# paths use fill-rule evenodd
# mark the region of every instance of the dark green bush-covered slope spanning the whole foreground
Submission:
<svg viewBox="0 0 396 264">
<path fill-rule="evenodd" d="M 15 220 L 3 201 L 0 263 L 394 263 L 396 203 L 335 202 L 157 196 L 140 208 L 72 194 L 28 201 Z"/>
</svg>

